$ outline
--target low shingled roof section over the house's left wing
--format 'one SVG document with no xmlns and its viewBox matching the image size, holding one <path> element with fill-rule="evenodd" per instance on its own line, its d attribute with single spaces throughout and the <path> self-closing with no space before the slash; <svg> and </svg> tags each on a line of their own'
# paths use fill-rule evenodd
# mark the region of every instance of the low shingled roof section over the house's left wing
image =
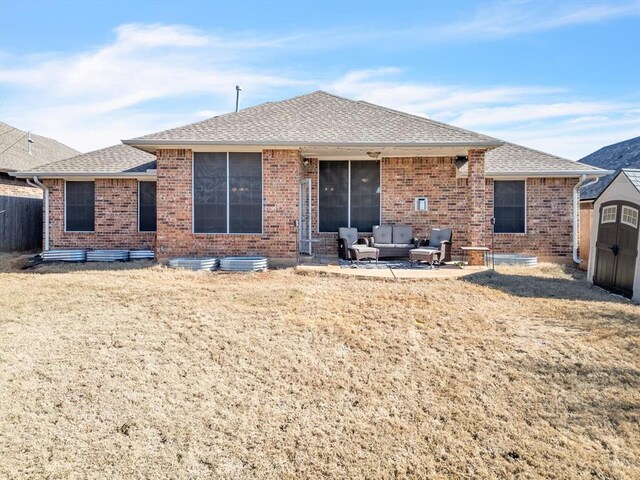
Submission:
<svg viewBox="0 0 640 480">
<path fill-rule="evenodd" d="M 155 155 L 128 145 L 113 145 L 20 172 L 20 176 L 136 176 L 155 168 Z"/>
</svg>

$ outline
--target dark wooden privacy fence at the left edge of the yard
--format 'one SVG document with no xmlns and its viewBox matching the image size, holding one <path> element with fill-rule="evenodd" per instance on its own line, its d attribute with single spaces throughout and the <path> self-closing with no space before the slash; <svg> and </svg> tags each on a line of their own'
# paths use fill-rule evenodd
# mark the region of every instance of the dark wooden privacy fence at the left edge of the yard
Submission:
<svg viewBox="0 0 640 480">
<path fill-rule="evenodd" d="M 42 199 L 0 195 L 0 252 L 42 249 Z"/>
</svg>

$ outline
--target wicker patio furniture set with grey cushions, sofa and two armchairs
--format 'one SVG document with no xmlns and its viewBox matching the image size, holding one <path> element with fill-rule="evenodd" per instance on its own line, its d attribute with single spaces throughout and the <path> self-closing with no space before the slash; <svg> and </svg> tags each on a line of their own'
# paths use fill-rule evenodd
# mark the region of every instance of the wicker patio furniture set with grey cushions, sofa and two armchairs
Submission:
<svg viewBox="0 0 640 480">
<path fill-rule="evenodd" d="M 409 257 L 412 263 L 425 262 L 437 268 L 451 261 L 452 236 L 450 228 L 433 228 L 429 238 L 418 239 L 410 226 L 376 225 L 371 237 L 359 237 L 356 228 L 343 227 L 338 231 L 338 255 L 352 263 Z"/>
</svg>

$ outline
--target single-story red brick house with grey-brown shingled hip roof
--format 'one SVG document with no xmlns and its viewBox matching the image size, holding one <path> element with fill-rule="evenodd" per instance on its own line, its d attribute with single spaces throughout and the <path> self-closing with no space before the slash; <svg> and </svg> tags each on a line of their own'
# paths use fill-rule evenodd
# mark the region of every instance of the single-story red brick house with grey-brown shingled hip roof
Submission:
<svg viewBox="0 0 640 480">
<path fill-rule="evenodd" d="M 495 218 L 497 251 L 570 261 L 576 188 L 608 173 L 325 92 L 123 143 L 17 174 L 48 190 L 46 247 L 293 262 L 309 238 L 335 254 L 338 227 L 398 224 L 451 227 L 459 255 Z"/>
</svg>

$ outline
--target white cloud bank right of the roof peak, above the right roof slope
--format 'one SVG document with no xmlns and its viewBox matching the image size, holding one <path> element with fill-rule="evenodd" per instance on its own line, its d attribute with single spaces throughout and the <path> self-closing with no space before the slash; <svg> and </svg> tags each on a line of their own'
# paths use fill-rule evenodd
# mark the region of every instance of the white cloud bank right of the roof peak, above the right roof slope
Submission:
<svg viewBox="0 0 640 480">
<path fill-rule="evenodd" d="M 640 135 L 637 104 L 572 99 L 572 92 L 554 87 L 407 83 L 397 73 L 350 72 L 326 88 L 572 159 Z"/>
</svg>

